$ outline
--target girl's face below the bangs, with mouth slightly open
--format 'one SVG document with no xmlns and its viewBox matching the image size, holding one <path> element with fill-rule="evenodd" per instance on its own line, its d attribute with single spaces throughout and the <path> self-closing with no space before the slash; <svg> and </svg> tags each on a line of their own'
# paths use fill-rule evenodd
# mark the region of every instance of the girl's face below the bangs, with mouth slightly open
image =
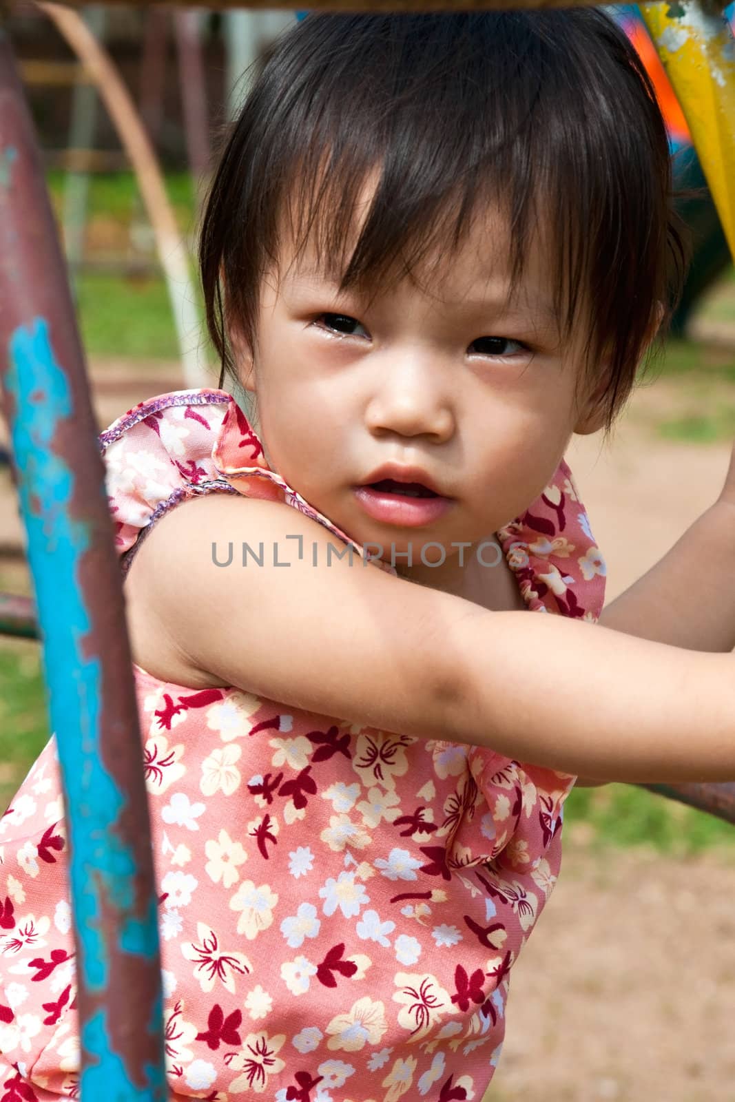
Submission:
<svg viewBox="0 0 735 1102">
<path fill-rule="evenodd" d="M 336 294 L 313 250 L 296 266 L 289 247 L 280 279 L 263 281 L 256 361 L 240 368 L 270 466 L 354 540 L 392 553 L 400 574 L 437 588 L 462 570 L 456 544 L 468 555 L 493 540 L 551 480 L 572 434 L 604 420 L 592 397 L 576 408 L 584 334 L 560 342 L 540 241 L 512 302 L 505 241 L 490 213 L 453 258 L 424 262 L 420 284 L 403 279 L 369 307 Z M 441 515 L 376 515 L 356 488 L 386 463 L 424 473 L 450 499 Z M 424 563 L 443 565 L 422 565 L 429 543 L 440 547 Z"/>
</svg>

